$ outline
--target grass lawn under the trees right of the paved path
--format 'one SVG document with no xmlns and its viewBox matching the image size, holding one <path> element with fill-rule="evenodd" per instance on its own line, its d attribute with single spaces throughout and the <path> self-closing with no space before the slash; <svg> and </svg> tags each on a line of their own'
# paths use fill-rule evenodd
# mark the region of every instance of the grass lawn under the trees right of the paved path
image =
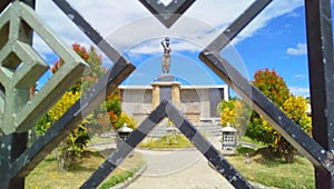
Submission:
<svg viewBox="0 0 334 189">
<path fill-rule="evenodd" d="M 296 157 L 294 163 L 286 163 L 266 150 L 239 148 L 239 153 L 227 157 L 227 160 L 248 180 L 269 187 L 304 189 L 315 188 L 314 168 L 307 159 Z M 250 163 L 246 165 L 246 156 L 250 155 Z"/>
</svg>

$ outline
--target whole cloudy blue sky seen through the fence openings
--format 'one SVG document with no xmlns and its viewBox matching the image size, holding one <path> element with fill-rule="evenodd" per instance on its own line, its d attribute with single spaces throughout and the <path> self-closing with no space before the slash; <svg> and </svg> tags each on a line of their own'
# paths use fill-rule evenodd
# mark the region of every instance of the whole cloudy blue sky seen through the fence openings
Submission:
<svg viewBox="0 0 334 189">
<path fill-rule="evenodd" d="M 187 84 L 224 83 L 198 59 L 198 53 L 253 2 L 197 0 L 175 26 L 166 29 L 138 1 L 68 1 L 137 67 L 124 84 L 149 84 L 157 79 L 161 73 L 160 41 L 166 36 L 171 39 L 170 72 L 178 80 Z M 68 46 L 92 44 L 52 2 L 38 1 L 37 13 Z M 258 69 L 275 69 L 294 94 L 306 97 L 310 92 L 305 36 L 303 0 L 277 0 L 222 54 L 249 79 Z M 35 47 L 49 63 L 57 60 L 37 36 Z M 110 67 L 112 62 L 104 56 L 104 64 Z"/>
</svg>

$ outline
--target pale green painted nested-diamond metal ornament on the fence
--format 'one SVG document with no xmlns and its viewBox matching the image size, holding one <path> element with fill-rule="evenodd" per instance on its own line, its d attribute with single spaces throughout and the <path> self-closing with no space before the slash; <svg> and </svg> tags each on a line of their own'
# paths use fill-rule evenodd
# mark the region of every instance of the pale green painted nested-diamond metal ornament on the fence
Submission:
<svg viewBox="0 0 334 189">
<path fill-rule="evenodd" d="M 48 63 L 27 43 L 31 30 L 63 60 L 65 64 L 47 84 L 30 99 L 29 89 L 49 69 Z M 0 80 L 4 91 L 4 108 L 0 112 L 0 128 L 4 133 L 27 132 L 82 74 L 87 63 L 62 44 L 38 19 L 35 11 L 14 1 L 0 18 Z M 6 38 L 7 37 L 7 38 Z M 22 63 L 21 63 L 22 62 Z"/>
</svg>

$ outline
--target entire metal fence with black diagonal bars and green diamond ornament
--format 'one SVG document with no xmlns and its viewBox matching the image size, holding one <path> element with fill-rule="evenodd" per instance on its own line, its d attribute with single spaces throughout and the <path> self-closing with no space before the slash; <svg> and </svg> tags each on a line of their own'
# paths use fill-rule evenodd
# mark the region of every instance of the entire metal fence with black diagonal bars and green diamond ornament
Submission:
<svg viewBox="0 0 334 189">
<path fill-rule="evenodd" d="M 4 132 L 1 142 L 0 188 L 24 188 L 24 178 L 42 159 L 50 153 L 56 146 L 98 105 L 106 93 L 114 91 L 134 70 L 135 67 L 108 43 L 66 0 L 52 0 L 65 14 L 76 23 L 82 32 L 91 39 L 115 63 L 99 81 L 94 84 L 81 98 L 31 147 L 27 148 L 27 131 L 38 121 L 55 100 L 31 100 L 27 97 L 27 89 L 31 86 L 46 67 L 43 63 L 30 63 L 26 72 L 13 72 L 14 78 L 6 77 L 0 72 L 1 84 L 6 93 L 0 105 L 12 106 L 10 112 L 1 112 L 1 130 Z M 179 17 L 193 4 L 195 0 L 174 0 L 168 6 L 157 1 L 139 0 L 166 28 L 171 27 Z M 311 100 L 313 138 L 308 137 L 299 126 L 282 112 L 269 99 L 257 90 L 238 70 L 236 70 L 219 51 L 224 49 L 247 24 L 264 10 L 272 0 L 256 0 L 244 13 L 242 13 L 226 30 L 224 30 L 212 43 L 206 47 L 199 58 L 222 80 L 228 83 L 238 94 L 253 103 L 254 109 L 284 136 L 298 151 L 315 167 L 316 188 L 334 188 L 333 158 L 334 158 L 334 62 L 333 62 L 333 36 L 332 13 L 330 0 L 305 0 L 307 26 L 307 51 L 311 78 Z M 6 9 L 6 7 L 9 7 Z M 0 60 L 1 69 L 18 67 L 11 53 L 17 54 L 19 61 L 43 62 L 35 57 L 26 59 L 24 54 L 31 52 L 32 31 L 37 31 L 47 43 L 69 62 L 78 62 L 68 68 L 62 82 L 75 80 L 85 62 L 67 50 L 52 33 L 36 18 L 35 0 L 10 1 L 2 0 L 0 10 Z M 9 13 L 7 13 L 9 12 Z M 14 14 L 17 13 L 17 14 Z M 209 13 L 209 12 L 208 12 Z M 19 18 L 23 21 L 16 22 Z M 213 16 L 216 17 L 216 16 Z M 14 47 L 14 48 L 13 48 Z M 8 52 L 7 52 L 8 51 Z M 1 57 L 2 56 L 2 57 Z M 29 64 L 29 63 L 28 63 Z M 20 69 L 21 70 L 21 69 Z M 38 71 L 36 71 L 38 70 Z M 38 77 L 31 77 L 31 76 Z M 60 77 L 60 76 L 59 76 Z M 21 80 L 29 81 L 22 86 Z M 14 80 L 14 81 L 13 81 Z M 56 82 L 56 81 L 53 81 Z M 53 83 L 51 82 L 51 83 Z M 55 83 L 53 83 L 55 84 Z M 69 83 L 70 84 L 70 83 Z M 12 87 L 14 86 L 14 87 Z M 67 86 L 68 88 L 69 86 Z M 43 97 L 53 97 L 53 91 L 65 92 L 67 88 L 46 89 Z M 11 97 L 10 92 L 16 94 Z M 42 93 L 42 92 L 40 92 Z M 40 94 L 39 98 L 42 98 Z M 11 99 L 21 101 L 12 101 Z M 17 107 L 30 106 L 31 110 L 18 110 Z M 45 106 L 39 107 L 43 102 Z M 31 108 L 32 107 L 32 108 Z M 27 108 L 27 109 L 28 109 Z M 3 109 L 3 108 L 2 108 Z M 21 116 L 11 121 L 13 115 Z M 81 188 L 96 188 L 101 181 L 127 157 L 130 151 L 147 136 L 147 133 L 165 117 L 168 117 L 175 126 L 195 145 L 195 147 L 210 161 L 217 171 L 223 175 L 236 188 L 252 188 L 248 181 L 219 153 L 178 111 L 169 101 L 163 101 L 149 117 L 112 152 L 105 162 L 82 183 Z M 8 119 L 10 118 L 10 119 Z M 22 119 L 22 120 L 21 120 Z"/>
</svg>

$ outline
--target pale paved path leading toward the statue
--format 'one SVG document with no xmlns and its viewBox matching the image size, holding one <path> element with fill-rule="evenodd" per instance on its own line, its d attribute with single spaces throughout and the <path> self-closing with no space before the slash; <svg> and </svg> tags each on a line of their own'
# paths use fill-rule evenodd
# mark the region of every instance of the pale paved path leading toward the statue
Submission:
<svg viewBox="0 0 334 189">
<path fill-rule="evenodd" d="M 213 140 L 216 148 L 218 141 Z M 213 170 L 206 158 L 197 150 L 151 151 L 137 150 L 147 160 L 146 171 L 129 189 L 214 189 L 234 188 Z"/>
</svg>

